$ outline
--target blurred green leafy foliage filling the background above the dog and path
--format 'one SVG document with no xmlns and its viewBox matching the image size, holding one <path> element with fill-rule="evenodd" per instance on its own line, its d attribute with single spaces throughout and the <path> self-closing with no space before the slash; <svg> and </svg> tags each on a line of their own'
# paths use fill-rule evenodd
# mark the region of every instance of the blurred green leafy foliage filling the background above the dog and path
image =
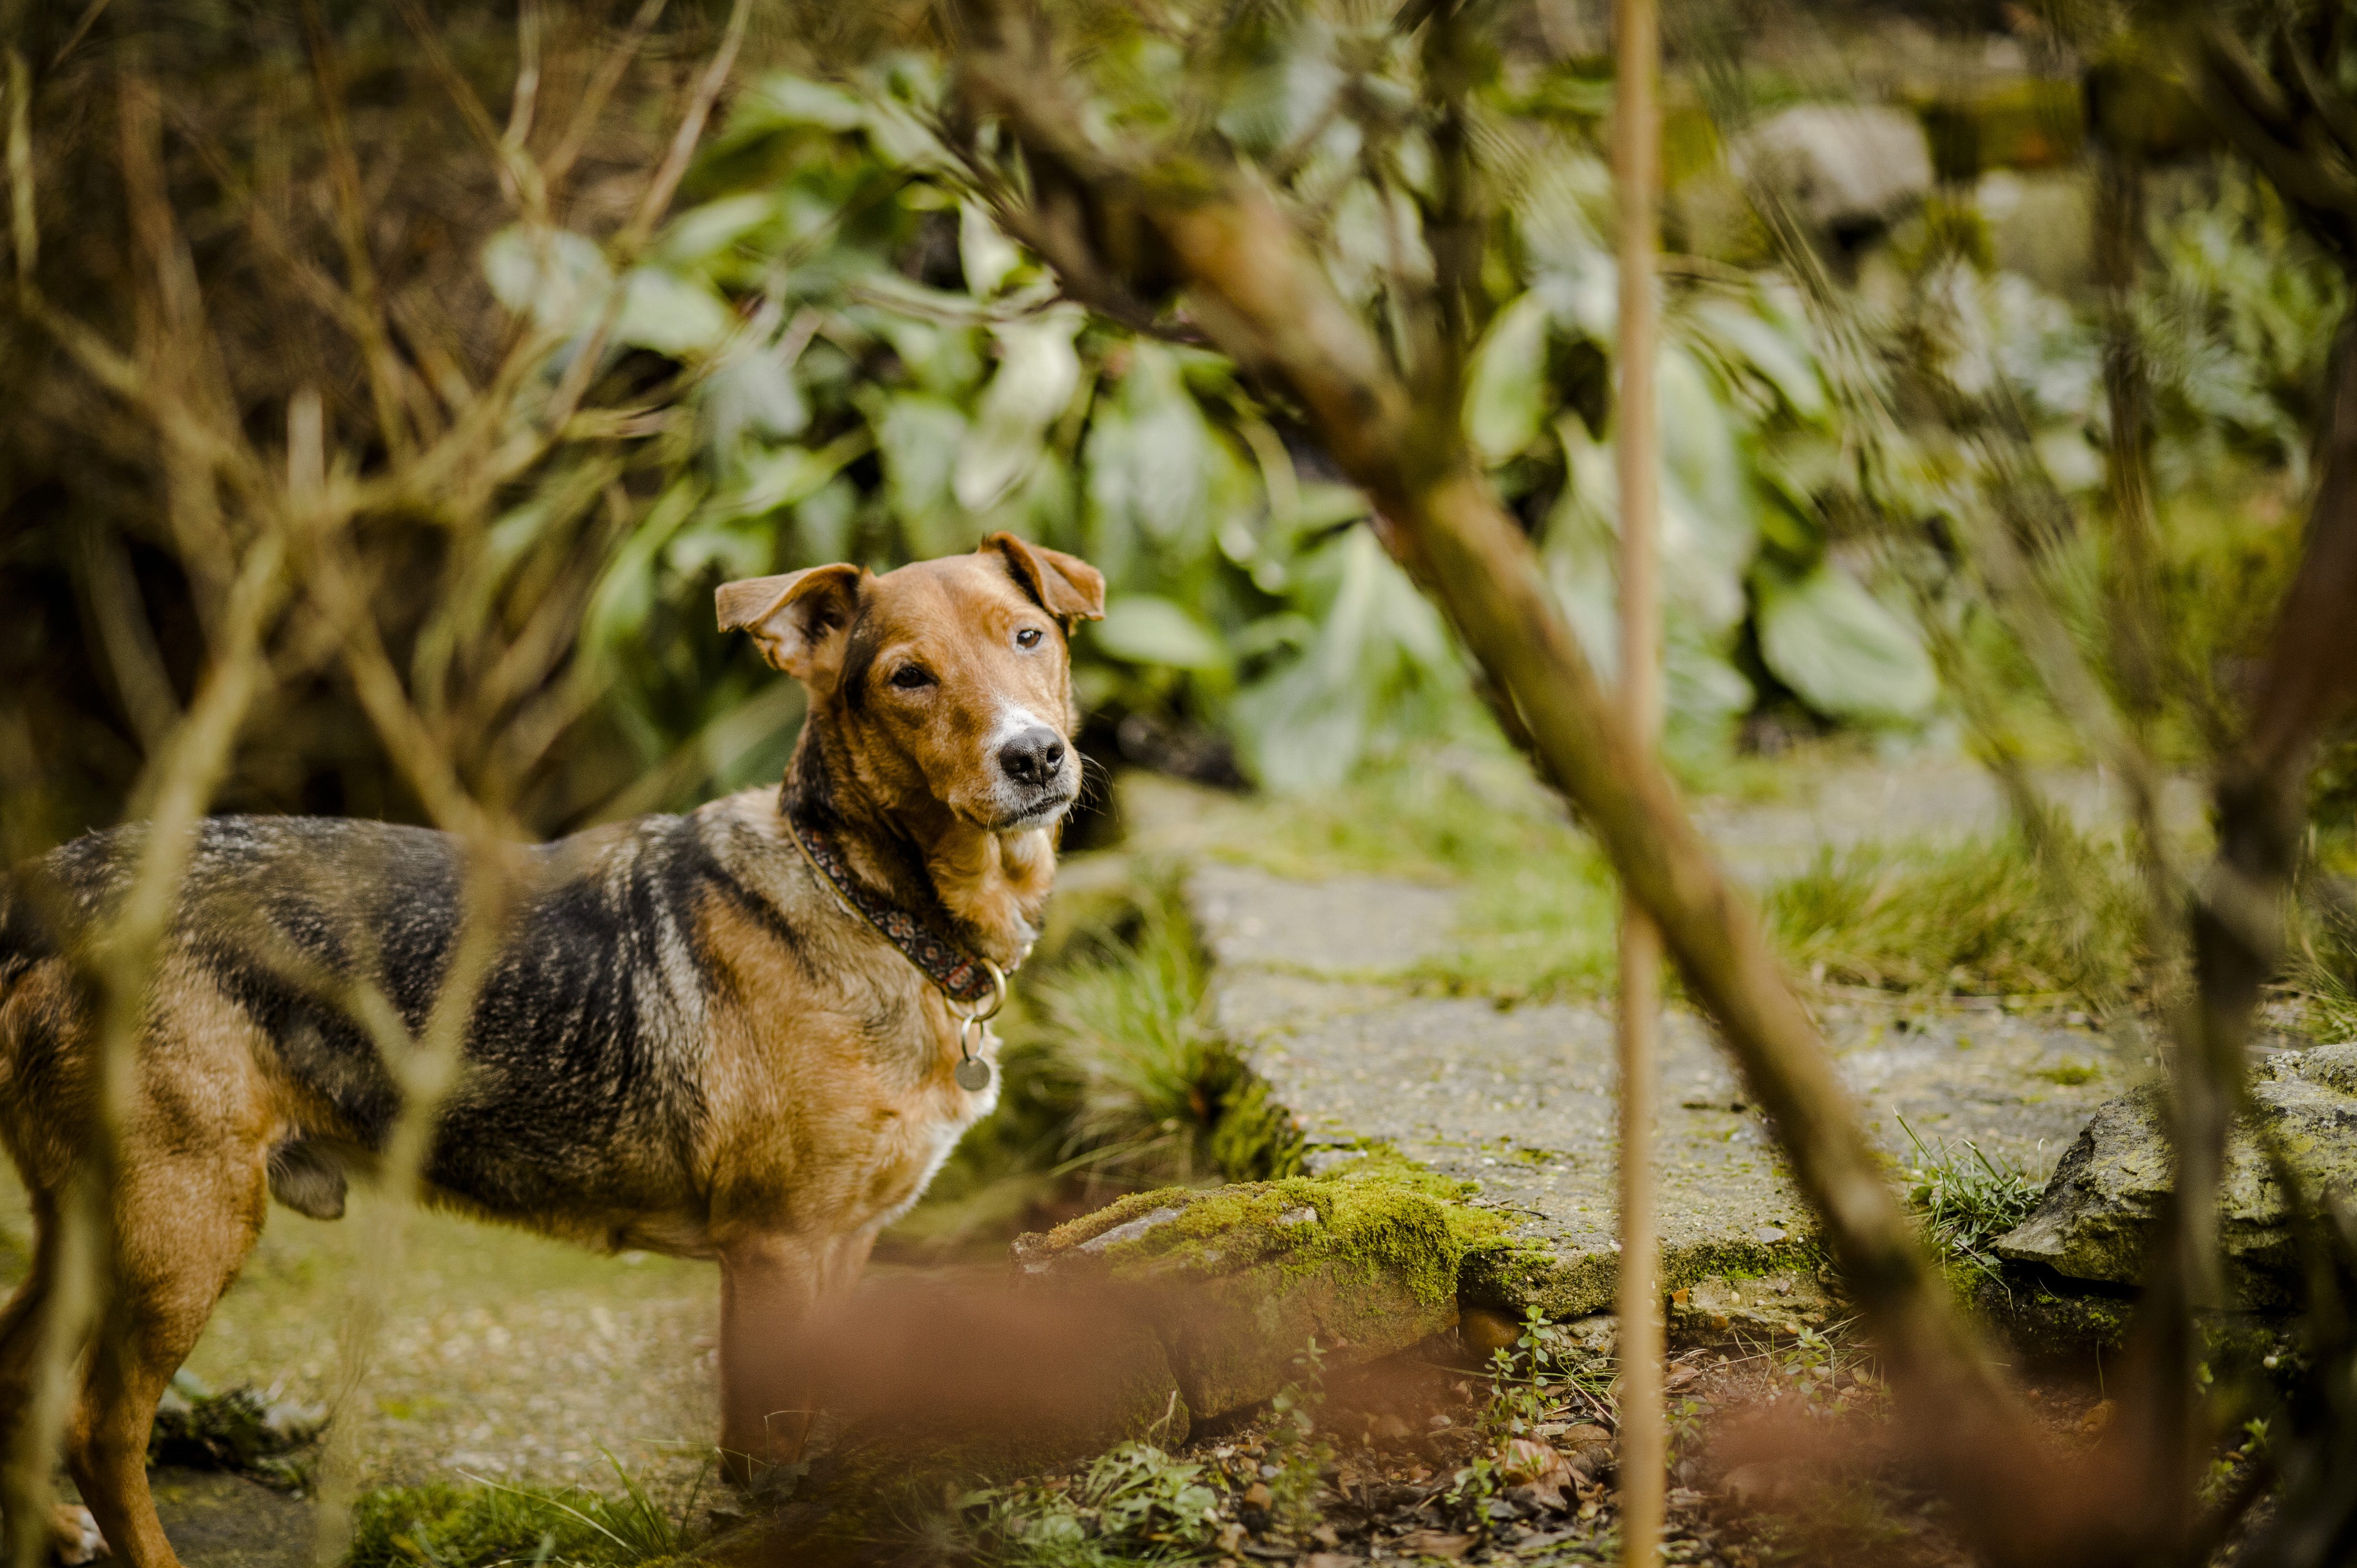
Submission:
<svg viewBox="0 0 2357 1568">
<path fill-rule="evenodd" d="M 125 0 L 40 75 L 45 285 L 137 341 L 153 283 L 125 259 L 139 254 L 130 188 L 111 137 L 92 134 L 113 113 L 115 66 L 137 59 L 165 108 L 163 195 L 243 419 L 273 428 L 299 386 L 318 386 L 337 461 L 368 473 L 387 452 L 365 356 L 321 290 L 321 273 L 346 278 L 349 235 L 332 221 L 332 146 L 299 28 L 205 16 Z M 438 57 L 375 7 L 328 7 L 368 181 L 363 245 L 403 353 L 436 386 L 481 381 L 502 341 L 540 330 L 559 346 L 537 374 L 556 381 L 610 323 L 592 398 L 608 412 L 582 440 L 490 492 L 438 499 L 438 516 L 379 523 L 396 565 L 377 610 L 396 662 L 420 673 L 436 655 L 410 629 L 420 596 L 441 591 L 436 565 L 457 558 L 450 530 L 481 532 L 481 558 L 523 589 L 540 551 L 592 567 L 563 650 L 568 697 L 547 720 L 561 735 L 519 786 L 526 822 L 563 831 L 775 775 L 794 697 L 712 629 L 714 584 L 839 558 L 882 570 L 995 527 L 1082 553 L 1113 582 L 1108 619 L 1077 640 L 1098 751 L 1117 737 L 1134 760 L 1233 779 L 1204 739 L 1228 735 L 1249 777 L 1306 791 L 1405 749 L 1490 737 L 1440 622 L 1289 410 L 1195 346 L 1183 313 L 1087 313 L 992 226 L 985 172 L 943 134 L 943 59 L 907 16 L 759 33 L 660 233 L 622 259 L 613 231 L 717 9 L 669 12 L 622 59 L 613 99 L 575 125 L 561 89 L 603 68 L 613 19 L 542 7 L 549 104 L 526 146 L 580 141 L 544 217 L 502 188 L 462 101 L 497 106 L 514 89 L 511 19 L 427 16 Z M 1398 301 L 1431 275 L 1445 221 L 1433 66 L 1412 38 L 1339 0 L 1214 28 L 1216 47 L 1193 52 L 1176 38 L 1200 19 L 1075 19 L 1108 125 L 1209 127 L 1282 193 L 1336 287 L 1386 334 L 1407 330 Z M 47 42 L 61 47 L 57 26 Z M 1494 200 L 1464 301 L 1478 330 L 1464 417 L 1610 673 L 1610 82 L 1501 38 L 1459 64 Z M 1723 179 L 1718 139 L 1697 146 L 1681 170 Z M 2211 690 L 2246 657 L 2260 619 L 2246 610 L 2289 558 L 2282 497 L 2300 483 L 2341 285 L 2263 188 L 2230 170 L 2194 181 L 2154 224 L 2140 311 L 2161 492 L 2216 497 L 2180 530 L 2197 539 L 2171 579 L 2180 664 Z M 1933 645 L 1954 636 L 1999 687 L 2025 685 L 2011 633 L 1952 572 L 1945 530 L 1992 459 L 1949 410 L 1959 393 L 2003 405 L 2039 483 L 2091 504 L 2100 339 L 2091 304 L 1963 242 L 1985 219 L 1956 200 L 1902 221 L 1860 278 L 1867 348 L 1907 414 L 1900 450 L 1876 461 L 1848 396 L 1857 346 L 1827 339 L 1791 275 L 1699 259 L 1664 273 L 1671 751 L 1690 777 L 1725 765 L 1735 718 L 1754 711 L 1801 727 L 1930 720 L 1940 697 L 1916 612 Z M 33 845 L 113 815 L 158 713 L 193 680 L 205 572 L 186 530 L 158 523 L 172 480 L 148 433 L 24 323 L 5 330 L 9 353 L 42 367 L 0 438 L 0 687 L 12 739 L 45 758 L 40 798 L 16 779 L 7 810 Z M 2249 473 L 2282 480 L 2253 487 Z M 2251 494 L 2277 497 L 2275 511 Z M 2088 532 L 2069 544 L 2093 640 L 2100 546 Z M 2211 567 L 2232 553 L 2249 558 L 2249 598 L 2227 612 Z M 104 614 L 123 584 L 146 626 Z M 250 730 L 226 805 L 417 815 L 332 671 L 292 664 Z M 2072 744 L 2067 727 L 2053 739 Z"/>
</svg>

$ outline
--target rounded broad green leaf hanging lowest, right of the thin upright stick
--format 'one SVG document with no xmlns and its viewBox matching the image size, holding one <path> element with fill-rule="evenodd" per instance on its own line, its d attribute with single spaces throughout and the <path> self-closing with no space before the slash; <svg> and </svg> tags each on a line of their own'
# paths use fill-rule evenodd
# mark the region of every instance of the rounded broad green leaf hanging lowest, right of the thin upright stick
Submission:
<svg viewBox="0 0 2357 1568">
<path fill-rule="evenodd" d="M 1921 718 L 1940 695 L 1930 657 L 1879 598 L 1827 563 L 1803 577 L 1754 574 L 1761 659 L 1813 709 L 1836 718 Z"/>
</svg>

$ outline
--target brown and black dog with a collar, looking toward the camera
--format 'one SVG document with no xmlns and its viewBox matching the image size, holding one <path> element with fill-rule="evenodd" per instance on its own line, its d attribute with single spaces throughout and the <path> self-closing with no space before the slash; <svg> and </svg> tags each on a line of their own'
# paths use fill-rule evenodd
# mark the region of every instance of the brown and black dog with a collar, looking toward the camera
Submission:
<svg viewBox="0 0 2357 1568">
<path fill-rule="evenodd" d="M 427 1189 L 599 1248 L 719 1260 L 721 1448 L 740 1471 L 797 1457 L 806 1434 L 806 1401 L 764 1375 L 768 1340 L 853 1281 L 997 1102 L 959 1015 L 1037 932 L 1080 793 L 1065 638 L 1103 593 L 1087 563 L 1014 534 L 882 577 L 726 584 L 721 626 L 811 692 L 783 791 L 521 850 L 526 892 L 474 996 Z M 38 1227 L 0 1316 L 0 1439 L 26 1408 L 54 1220 L 87 1149 L 80 956 L 141 843 L 94 833 L 0 881 L 0 1140 Z M 382 1149 L 401 1095 L 349 998 L 375 991 L 424 1029 L 462 878 L 462 845 L 422 829 L 214 817 L 198 833 L 66 1443 L 137 1568 L 174 1561 L 144 1471 L 156 1401 L 269 1196 L 335 1217 L 344 1172 Z"/>
</svg>

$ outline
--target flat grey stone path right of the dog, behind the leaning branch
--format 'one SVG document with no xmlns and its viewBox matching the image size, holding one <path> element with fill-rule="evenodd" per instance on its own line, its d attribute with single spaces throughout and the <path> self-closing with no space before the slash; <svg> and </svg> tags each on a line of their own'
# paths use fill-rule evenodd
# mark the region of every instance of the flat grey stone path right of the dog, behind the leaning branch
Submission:
<svg viewBox="0 0 2357 1568">
<path fill-rule="evenodd" d="M 2079 822 L 2105 822 L 2107 796 L 2091 775 L 2046 784 Z M 1607 1309 L 1617 1208 L 1610 1008 L 1501 1010 L 1419 994 L 1407 970 L 1461 942 L 1452 890 L 1277 878 L 1233 864 L 1226 833 L 1190 822 L 1221 808 L 1162 789 L 1124 796 L 1124 810 L 1134 833 L 1188 864 L 1190 909 L 1216 965 L 1219 1026 L 1294 1114 L 1308 1165 L 1329 1168 L 1374 1140 L 1480 1182 L 1475 1201 L 1516 1215 L 1518 1234 L 1553 1257 L 1544 1276 L 1506 1290 L 1513 1304 L 1532 1300 L 1551 1316 Z M 2194 805 L 2190 786 L 2168 796 L 2173 822 L 2190 822 Z M 1980 770 L 1916 760 L 1834 770 L 1794 800 L 1706 803 L 1697 819 L 1737 876 L 1765 878 L 1803 866 L 1827 843 L 1973 838 L 2006 817 Z M 1926 1144 L 1970 1140 L 2044 1177 L 2095 1107 L 2140 1071 L 2128 1062 L 2140 1055 L 2133 1043 L 2084 1019 L 1994 1003 L 1820 996 L 1817 1022 L 1895 1168 L 1914 1161 L 1914 1128 Z M 1813 1220 L 1772 1137 L 1709 1024 L 1685 1008 L 1664 1019 L 1657 1140 L 1669 1285 L 1813 1267 Z"/>
</svg>

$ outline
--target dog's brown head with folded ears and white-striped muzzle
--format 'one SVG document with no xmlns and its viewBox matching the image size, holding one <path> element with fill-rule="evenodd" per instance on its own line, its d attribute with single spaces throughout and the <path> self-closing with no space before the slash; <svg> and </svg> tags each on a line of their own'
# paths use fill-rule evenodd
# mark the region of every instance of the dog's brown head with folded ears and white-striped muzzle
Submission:
<svg viewBox="0 0 2357 1568">
<path fill-rule="evenodd" d="M 990 534 L 971 556 L 882 577 L 825 565 L 731 582 L 719 612 L 721 631 L 750 631 L 808 687 L 813 720 L 851 746 L 886 808 L 931 798 L 1011 833 L 1054 824 L 1080 796 L 1065 636 L 1105 614 L 1087 560 Z"/>
</svg>

